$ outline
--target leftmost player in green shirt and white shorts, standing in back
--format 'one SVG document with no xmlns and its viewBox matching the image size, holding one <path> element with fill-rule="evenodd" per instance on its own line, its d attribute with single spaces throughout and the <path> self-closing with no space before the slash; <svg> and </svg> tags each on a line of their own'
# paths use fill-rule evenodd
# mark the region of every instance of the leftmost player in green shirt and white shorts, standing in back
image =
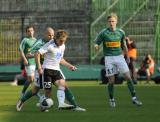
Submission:
<svg viewBox="0 0 160 122">
<path fill-rule="evenodd" d="M 26 92 L 28 86 L 31 82 L 34 81 L 34 73 L 35 73 L 35 59 L 33 58 L 27 58 L 26 55 L 30 53 L 30 49 L 32 45 L 36 42 L 36 38 L 34 37 L 34 27 L 33 26 L 27 26 L 26 27 L 26 34 L 27 36 L 23 38 L 21 44 L 20 44 L 20 55 L 22 57 L 23 63 L 25 65 L 26 73 L 27 73 L 27 80 L 24 83 L 24 87 L 21 92 L 21 96 L 24 95 Z"/>
</svg>

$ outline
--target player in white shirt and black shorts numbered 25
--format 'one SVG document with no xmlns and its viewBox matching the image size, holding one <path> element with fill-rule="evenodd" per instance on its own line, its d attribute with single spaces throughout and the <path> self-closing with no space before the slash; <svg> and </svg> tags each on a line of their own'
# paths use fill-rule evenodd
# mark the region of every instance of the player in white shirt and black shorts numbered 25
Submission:
<svg viewBox="0 0 160 122">
<path fill-rule="evenodd" d="M 66 103 L 65 101 L 65 89 L 67 88 L 64 75 L 60 69 L 60 64 L 68 67 L 70 70 L 76 70 L 76 67 L 67 62 L 64 58 L 65 42 L 68 34 L 64 30 L 59 30 L 56 33 L 55 40 L 46 43 L 41 47 L 36 53 L 36 64 L 38 67 L 39 74 L 43 74 L 44 81 L 43 87 L 45 91 L 45 97 L 51 97 L 52 84 L 58 86 L 57 98 L 59 103 L 59 108 L 63 107 Z M 41 66 L 40 55 L 44 55 L 44 62 Z M 43 68 L 43 70 L 42 70 Z M 68 105 L 67 105 L 68 106 Z M 74 107 L 70 105 L 75 110 L 86 111 L 78 106 Z"/>
</svg>

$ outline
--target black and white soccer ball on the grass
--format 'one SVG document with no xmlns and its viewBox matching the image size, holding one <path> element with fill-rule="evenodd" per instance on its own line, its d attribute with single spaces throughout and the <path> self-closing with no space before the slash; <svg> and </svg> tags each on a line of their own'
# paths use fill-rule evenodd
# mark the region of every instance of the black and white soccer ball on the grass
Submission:
<svg viewBox="0 0 160 122">
<path fill-rule="evenodd" d="M 51 98 L 43 98 L 40 102 L 41 107 L 44 109 L 48 109 L 52 107 L 54 104 L 53 100 Z"/>
</svg>

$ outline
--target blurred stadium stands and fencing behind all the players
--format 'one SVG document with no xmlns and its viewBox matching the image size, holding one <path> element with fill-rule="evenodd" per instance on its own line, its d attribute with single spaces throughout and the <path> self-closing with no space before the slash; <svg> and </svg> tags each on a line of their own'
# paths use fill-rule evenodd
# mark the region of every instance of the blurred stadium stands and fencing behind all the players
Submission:
<svg viewBox="0 0 160 122">
<path fill-rule="evenodd" d="M 4 73 L 9 77 L 9 73 L 20 72 L 18 48 L 29 24 L 36 27 L 37 38 L 48 26 L 67 30 L 65 58 L 82 65 L 81 70 L 88 66 L 87 69 L 99 71 L 96 65 L 103 54 L 102 49 L 94 50 L 93 40 L 107 26 L 106 17 L 111 12 L 118 14 L 118 26 L 135 41 L 137 63 L 150 53 L 158 64 L 160 0 L 1 0 L 0 78 Z"/>
</svg>

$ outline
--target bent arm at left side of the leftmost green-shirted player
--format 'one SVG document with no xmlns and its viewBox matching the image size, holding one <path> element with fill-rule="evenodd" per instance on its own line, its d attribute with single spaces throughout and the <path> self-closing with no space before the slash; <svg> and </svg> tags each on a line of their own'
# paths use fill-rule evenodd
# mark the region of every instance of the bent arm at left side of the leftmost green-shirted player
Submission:
<svg viewBox="0 0 160 122">
<path fill-rule="evenodd" d="M 24 49 L 25 49 L 25 40 L 22 40 L 19 50 L 20 50 L 20 56 L 22 57 L 22 60 L 24 61 L 24 65 L 28 65 L 28 60 L 24 54 Z"/>
</svg>

